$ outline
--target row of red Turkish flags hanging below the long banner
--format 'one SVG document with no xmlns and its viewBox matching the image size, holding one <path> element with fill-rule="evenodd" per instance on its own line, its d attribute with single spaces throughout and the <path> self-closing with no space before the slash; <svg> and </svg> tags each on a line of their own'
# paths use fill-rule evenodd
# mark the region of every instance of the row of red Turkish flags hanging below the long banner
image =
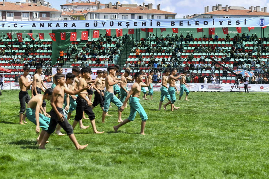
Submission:
<svg viewBox="0 0 269 179">
<path fill-rule="evenodd" d="M 250 30 L 254 30 L 254 27 L 247 27 L 249 32 Z M 262 27 L 263 29 L 266 28 Z M 115 29 L 116 30 L 116 36 L 120 37 L 123 36 L 123 32 L 122 29 Z M 166 31 L 166 28 L 160 28 L 161 32 Z M 204 32 L 203 28 L 196 28 L 197 33 L 199 32 Z M 238 33 L 242 33 L 242 27 L 236 27 L 236 30 Z M 153 28 L 142 28 L 141 31 L 143 32 L 151 32 L 153 33 Z M 222 27 L 222 31 L 223 34 L 229 34 L 229 30 L 228 27 Z M 173 33 L 178 33 L 178 28 L 172 28 L 172 32 Z M 35 40 L 33 38 L 33 33 L 27 33 L 30 38 L 32 38 L 33 40 Z M 56 41 L 56 37 L 55 37 L 56 33 L 49 33 L 51 39 L 53 41 Z M 61 40 L 66 40 L 66 33 L 65 32 L 61 32 Z M 134 29 L 128 29 L 128 34 L 134 34 Z M 209 35 L 214 35 L 215 34 L 215 27 L 210 27 L 208 28 L 208 34 Z M 39 33 L 39 39 L 40 40 L 44 40 L 44 33 Z M 99 30 L 93 30 L 93 34 L 92 34 L 92 38 L 99 38 Z M 12 34 L 11 33 L 7 33 L 8 38 L 12 39 Z M 106 29 L 106 36 L 111 36 L 111 29 Z M 19 42 L 22 42 L 22 33 L 17 33 L 17 38 Z M 88 40 L 88 31 L 82 31 L 81 32 L 81 40 Z M 77 32 L 70 32 L 70 41 L 77 41 Z"/>
</svg>

